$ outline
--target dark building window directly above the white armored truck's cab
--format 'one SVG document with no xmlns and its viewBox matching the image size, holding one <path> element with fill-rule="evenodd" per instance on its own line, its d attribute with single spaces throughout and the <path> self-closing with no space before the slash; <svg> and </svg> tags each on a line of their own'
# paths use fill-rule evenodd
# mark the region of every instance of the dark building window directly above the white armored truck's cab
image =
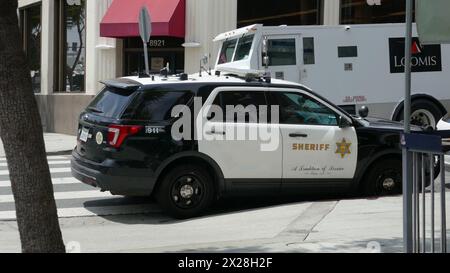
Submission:
<svg viewBox="0 0 450 273">
<path fill-rule="evenodd" d="M 322 0 L 238 0 L 237 18 L 238 27 L 319 25 Z"/>
</svg>

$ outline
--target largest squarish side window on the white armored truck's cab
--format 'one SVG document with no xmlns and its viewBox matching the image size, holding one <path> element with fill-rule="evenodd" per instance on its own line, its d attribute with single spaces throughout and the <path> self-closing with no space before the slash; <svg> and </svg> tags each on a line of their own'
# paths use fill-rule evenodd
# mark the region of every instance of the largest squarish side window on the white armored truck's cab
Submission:
<svg viewBox="0 0 450 273">
<path fill-rule="evenodd" d="M 269 66 L 296 65 L 295 39 L 268 40 Z"/>
</svg>

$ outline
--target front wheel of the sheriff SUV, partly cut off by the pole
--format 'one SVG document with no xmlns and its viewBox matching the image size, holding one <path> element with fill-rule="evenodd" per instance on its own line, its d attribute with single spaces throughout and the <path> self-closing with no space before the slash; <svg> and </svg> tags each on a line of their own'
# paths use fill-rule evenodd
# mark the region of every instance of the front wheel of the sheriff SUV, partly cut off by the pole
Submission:
<svg viewBox="0 0 450 273">
<path fill-rule="evenodd" d="M 363 191 L 368 196 L 387 196 L 402 193 L 402 161 L 385 159 L 372 165 L 365 176 Z"/>
</svg>

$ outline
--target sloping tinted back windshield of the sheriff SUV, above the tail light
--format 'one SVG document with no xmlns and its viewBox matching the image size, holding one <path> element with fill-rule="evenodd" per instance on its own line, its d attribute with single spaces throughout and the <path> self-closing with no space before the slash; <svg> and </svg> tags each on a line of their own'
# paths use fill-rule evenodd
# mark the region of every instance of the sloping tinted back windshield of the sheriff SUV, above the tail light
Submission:
<svg viewBox="0 0 450 273">
<path fill-rule="evenodd" d="M 87 110 L 108 118 L 120 118 L 133 98 L 133 91 L 105 87 L 89 104 Z"/>
</svg>

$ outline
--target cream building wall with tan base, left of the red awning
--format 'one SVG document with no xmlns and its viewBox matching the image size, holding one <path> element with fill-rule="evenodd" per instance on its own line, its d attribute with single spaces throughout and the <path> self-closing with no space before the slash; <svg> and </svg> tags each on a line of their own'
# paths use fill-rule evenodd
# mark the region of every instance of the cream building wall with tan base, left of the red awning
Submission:
<svg viewBox="0 0 450 273">
<path fill-rule="evenodd" d="M 99 24 L 113 0 L 86 3 L 86 90 L 84 93 L 54 93 L 55 0 L 19 0 L 19 8 L 42 2 L 41 93 L 36 95 L 46 132 L 75 135 L 78 117 L 100 91 L 100 80 L 115 78 L 121 62 L 115 39 L 99 37 Z M 120 49 L 120 48 L 119 48 Z"/>
</svg>

